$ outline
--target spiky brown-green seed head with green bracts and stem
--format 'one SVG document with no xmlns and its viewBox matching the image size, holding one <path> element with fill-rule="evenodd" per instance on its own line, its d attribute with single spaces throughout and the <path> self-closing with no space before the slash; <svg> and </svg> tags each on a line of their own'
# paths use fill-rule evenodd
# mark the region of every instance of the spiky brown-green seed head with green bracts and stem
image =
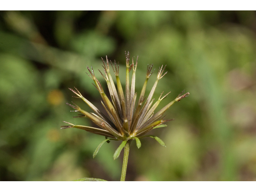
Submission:
<svg viewBox="0 0 256 192">
<path fill-rule="evenodd" d="M 125 52 L 126 54 L 126 52 Z M 166 66 L 159 67 L 156 82 L 154 83 L 154 86 L 152 87 L 150 94 L 148 95 L 148 98 L 145 99 L 144 94 L 146 91 L 146 86 L 148 83 L 148 79 L 150 78 L 152 74 L 152 66 L 148 65 L 147 72 L 146 72 L 146 80 L 144 82 L 144 85 L 142 87 L 142 90 L 140 92 L 140 96 L 138 99 L 138 102 L 136 104 L 136 98 L 137 93 L 135 93 L 135 74 L 136 74 L 136 68 L 138 64 L 138 57 L 136 60 L 136 64 L 134 64 L 133 58 L 132 58 L 132 64 L 130 64 L 130 54 L 129 52 L 126 54 L 126 84 L 125 84 L 125 94 L 123 92 L 122 84 L 120 82 L 119 78 L 119 66 L 116 65 L 116 62 L 114 62 L 114 66 L 111 63 L 111 66 L 114 70 L 114 74 L 116 75 L 116 84 L 117 89 L 114 84 L 114 81 L 112 79 L 112 76 L 110 74 L 110 64 L 108 62 L 108 58 L 106 56 L 106 63 L 103 61 L 103 68 L 104 68 L 104 74 L 102 76 L 107 82 L 108 85 L 108 91 L 110 93 L 111 100 L 106 96 L 102 85 L 97 80 L 97 78 L 94 75 L 93 69 L 90 69 L 88 66 L 88 70 L 90 72 L 90 78 L 94 80 L 95 87 L 100 93 L 100 96 L 102 98 L 102 105 L 105 108 L 106 112 L 108 113 L 108 117 L 106 117 L 98 108 L 96 108 L 91 102 L 89 102 L 86 98 L 82 96 L 82 94 L 75 88 L 70 90 L 74 92 L 78 96 L 78 98 L 81 98 L 90 106 L 90 108 L 94 112 L 86 112 L 82 110 L 79 106 L 76 104 L 71 105 L 72 108 L 74 108 L 74 112 L 80 112 L 79 114 L 81 117 L 86 117 L 92 120 L 94 124 L 99 126 L 100 128 L 90 127 L 90 126 L 82 126 L 82 125 L 74 125 L 71 123 L 69 126 L 62 126 L 62 128 L 78 128 L 82 130 L 86 130 L 88 132 L 92 132 L 95 134 L 99 134 L 102 136 L 105 136 L 106 139 L 100 143 L 100 145 L 96 148 L 93 157 L 96 156 L 98 153 L 98 150 L 104 144 L 104 142 L 109 142 L 110 140 L 122 140 L 122 143 L 117 148 L 116 152 L 114 153 L 114 159 L 118 158 L 120 155 L 121 150 L 124 148 L 124 160 L 123 160 L 123 166 L 122 166 L 122 174 L 121 174 L 121 181 L 125 180 L 126 176 L 126 168 L 127 168 L 127 162 L 128 162 L 128 154 L 129 154 L 129 146 L 130 142 L 132 140 L 136 141 L 136 145 L 138 148 L 140 148 L 141 143 L 140 139 L 143 137 L 151 137 L 154 138 L 156 141 L 158 141 L 162 146 L 165 146 L 164 142 L 153 135 L 146 135 L 150 130 L 154 128 L 159 127 L 165 127 L 167 125 L 164 125 L 164 122 L 170 121 L 170 120 L 164 120 L 163 114 L 166 112 L 170 106 L 172 106 L 175 102 L 180 101 L 182 98 L 185 98 L 189 95 L 189 92 L 186 94 L 183 94 L 184 91 L 182 91 L 181 94 L 178 95 L 176 99 L 174 99 L 172 102 L 167 104 L 164 108 L 162 108 L 158 112 L 154 112 L 156 107 L 159 105 L 159 103 L 166 98 L 166 96 L 170 93 L 167 93 L 165 96 L 160 95 L 158 100 L 153 104 L 154 99 L 152 99 L 153 94 L 156 90 L 156 86 L 158 84 L 158 81 L 167 73 L 164 72 L 164 69 Z M 129 80 L 129 72 L 132 70 L 132 81 L 130 84 Z M 94 178 L 84 178 L 80 180 L 101 180 L 101 179 L 94 179 Z"/>
</svg>

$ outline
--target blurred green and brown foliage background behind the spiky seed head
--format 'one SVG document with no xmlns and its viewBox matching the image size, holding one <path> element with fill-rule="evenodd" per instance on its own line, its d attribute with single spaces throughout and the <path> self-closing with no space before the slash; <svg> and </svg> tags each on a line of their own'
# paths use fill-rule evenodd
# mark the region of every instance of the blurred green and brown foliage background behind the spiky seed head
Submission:
<svg viewBox="0 0 256 192">
<path fill-rule="evenodd" d="M 120 180 L 120 142 L 65 129 L 66 102 L 91 112 L 68 90 L 74 86 L 102 109 L 86 74 L 93 66 L 106 83 L 101 57 L 138 58 L 136 92 L 147 64 L 167 65 L 153 98 L 171 91 L 158 110 L 182 90 L 188 98 L 167 112 L 168 127 L 132 142 L 126 180 L 256 180 L 255 11 L 2 11 L 0 12 L 0 180 Z M 149 93 L 156 73 L 147 87 Z M 124 83 L 124 78 L 121 79 Z"/>
</svg>

